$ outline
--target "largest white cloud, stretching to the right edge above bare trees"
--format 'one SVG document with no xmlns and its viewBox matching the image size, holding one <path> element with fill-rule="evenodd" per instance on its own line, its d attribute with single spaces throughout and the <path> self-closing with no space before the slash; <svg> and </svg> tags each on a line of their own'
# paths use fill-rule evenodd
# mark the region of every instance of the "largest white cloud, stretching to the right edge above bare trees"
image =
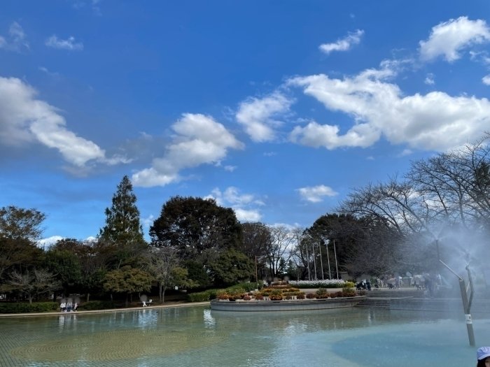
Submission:
<svg viewBox="0 0 490 367">
<path fill-rule="evenodd" d="M 332 124 L 309 122 L 297 126 L 291 141 L 311 147 L 368 147 L 381 136 L 393 144 L 445 151 L 466 141 L 475 141 L 490 124 L 488 99 L 449 96 L 444 92 L 403 96 L 398 85 L 379 76 L 389 73 L 360 73 L 352 78 L 331 79 L 327 75 L 293 78 L 289 85 L 323 103 L 328 110 L 351 115 L 355 124 L 340 133 Z"/>
</svg>

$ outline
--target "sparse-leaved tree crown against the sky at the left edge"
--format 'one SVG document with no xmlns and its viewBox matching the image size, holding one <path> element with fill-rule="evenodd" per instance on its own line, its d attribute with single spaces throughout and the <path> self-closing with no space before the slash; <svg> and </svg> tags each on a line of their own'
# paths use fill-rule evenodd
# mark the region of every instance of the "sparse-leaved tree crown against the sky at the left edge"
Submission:
<svg viewBox="0 0 490 367">
<path fill-rule="evenodd" d="M 4 206 L 0 208 L 0 237 L 35 242 L 43 233 L 44 219 L 45 215 L 36 209 Z"/>
</svg>

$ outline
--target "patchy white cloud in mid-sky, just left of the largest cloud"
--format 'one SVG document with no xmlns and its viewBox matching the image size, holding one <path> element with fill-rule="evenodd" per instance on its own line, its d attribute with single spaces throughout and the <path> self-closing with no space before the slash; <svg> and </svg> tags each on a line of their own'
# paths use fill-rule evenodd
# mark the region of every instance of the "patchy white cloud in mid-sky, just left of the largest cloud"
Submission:
<svg viewBox="0 0 490 367">
<path fill-rule="evenodd" d="M 274 92 L 263 99 L 250 98 L 240 103 L 237 121 L 244 125 L 246 134 L 253 141 L 272 141 L 276 137 L 275 128 L 282 124 L 274 117 L 288 112 L 292 103 L 280 92 Z"/>
</svg>

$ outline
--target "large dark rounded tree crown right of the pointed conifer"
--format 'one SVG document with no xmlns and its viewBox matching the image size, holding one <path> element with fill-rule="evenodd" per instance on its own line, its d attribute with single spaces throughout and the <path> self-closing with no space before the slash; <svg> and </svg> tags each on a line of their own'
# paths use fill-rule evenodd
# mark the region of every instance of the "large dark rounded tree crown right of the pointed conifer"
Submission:
<svg viewBox="0 0 490 367">
<path fill-rule="evenodd" d="M 201 264 L 225 248 L 237 247 L 241 226 L 231 208 L 214 199 L 174 196 L 150 227 L 152 245 L 173 247 L 183 260 Z"/>
</svg>

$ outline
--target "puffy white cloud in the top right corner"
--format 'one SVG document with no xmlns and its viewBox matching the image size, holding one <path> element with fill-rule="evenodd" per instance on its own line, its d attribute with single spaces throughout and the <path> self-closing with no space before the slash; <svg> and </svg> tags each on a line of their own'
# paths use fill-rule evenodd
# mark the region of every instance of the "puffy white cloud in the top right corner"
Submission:
<svg viewBox="0 0 490 367">
<path fill-rule="evenodd" d="M 458 17 L 433 27 L 427 41 L 420 41 L 420 57 L 432 61 L 443 56 L 448 62 L 461 57 L 461 51 L 490 41 L 490 29 L 484 20 Z"/>
</svg>

